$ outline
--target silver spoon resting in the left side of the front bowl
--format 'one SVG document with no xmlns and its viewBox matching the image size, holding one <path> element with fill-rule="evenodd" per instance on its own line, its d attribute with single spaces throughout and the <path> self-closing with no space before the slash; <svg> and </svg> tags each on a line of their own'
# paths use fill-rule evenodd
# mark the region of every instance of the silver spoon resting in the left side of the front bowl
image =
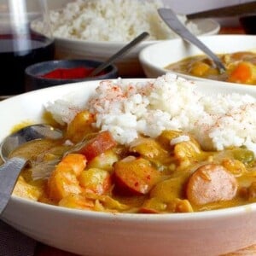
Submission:
<svg viewBox="0 0 256 256">
<path fill-rule="evenodd" d="M 9 201 L 20 171 L 29 162 L 29 160 L 21 157 L 9 159 L 10 152 L 32 140 L 42 138 L 58 139 L 61 137 L 62 132 L 60 130 L 56 130 L 50 125 L 38 124 L 22 128 L 3 140 L 0 146 L 0 156 L 5 163 L 0 166 L 0 214 Z"/>
</svg>

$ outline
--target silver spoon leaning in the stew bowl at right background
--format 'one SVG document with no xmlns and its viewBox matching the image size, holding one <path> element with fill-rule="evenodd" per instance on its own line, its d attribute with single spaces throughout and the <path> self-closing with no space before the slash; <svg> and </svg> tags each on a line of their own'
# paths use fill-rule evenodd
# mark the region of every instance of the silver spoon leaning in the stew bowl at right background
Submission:
<svg viewBox="0 0 256 256">
<path fill-rule="evenodd" d="M 224 73 L 226 68 L 224 64 L 217 55 L 215 55 L 211 49 L 209 49 L 205 44 L 201 43 L 201 41 L 196 38 L 183 23 L 178 20 L 177 15 L 172 11 L 172 9 L 160 8 L 158 9 L 158 13 L 162 20 L 166 22 L 166 24 L 172 28 L 174 32 L 176 32 L 181 38 L 189 42 L 190 44 L 194 44 L 196 47 L 201 49 L 206 55 L 208 55 L 215 66 L 218 68 L 219 73 Z"/>
</svg>

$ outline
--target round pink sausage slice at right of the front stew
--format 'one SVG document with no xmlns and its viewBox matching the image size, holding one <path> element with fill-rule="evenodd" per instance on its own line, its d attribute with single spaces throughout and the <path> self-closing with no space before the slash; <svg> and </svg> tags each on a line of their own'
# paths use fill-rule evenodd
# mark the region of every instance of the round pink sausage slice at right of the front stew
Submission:
<svg viewBox="0 0 256 256">
<path fill-rule="evenodd" d="M 189 177 L 187 197 L 195 205 L 215 201 L 228 201 L 235 197 L 238 188 L 236 177 L 224 166 L 207 164 Z"/>
</svg>

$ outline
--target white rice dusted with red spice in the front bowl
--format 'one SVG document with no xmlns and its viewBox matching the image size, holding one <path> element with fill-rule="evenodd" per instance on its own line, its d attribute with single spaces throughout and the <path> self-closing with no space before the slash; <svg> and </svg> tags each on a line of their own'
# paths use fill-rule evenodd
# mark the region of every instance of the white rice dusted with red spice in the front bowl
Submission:
<svg viewBox="0 0 256 256">
<path fill-rule="evenodd" d="M 67 122 L 79 108 L 59 102 L 47 109 Z M 150 82 L 102 81 L 83 108 L 96 113 L 96 127 L 111 131 L 119 143 L 129 144 L 139 134 L 157 137 L 165 130 L 182 130 L 208 150 L 245 145 L 256 154 L 256 98 L 238 93 L 206 96 L 195 82 L 171 73 Z"/>
</svg>

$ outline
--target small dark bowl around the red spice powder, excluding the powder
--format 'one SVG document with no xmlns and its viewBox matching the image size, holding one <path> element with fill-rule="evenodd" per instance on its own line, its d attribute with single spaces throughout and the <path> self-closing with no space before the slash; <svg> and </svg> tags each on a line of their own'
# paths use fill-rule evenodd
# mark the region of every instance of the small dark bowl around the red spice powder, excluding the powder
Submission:
<svg viewBox="0 0 256 256">
<path fill-rule="evenodd" d="M 118 69 L 114 65 L 105 68 L 104 72 L 96 77 L 84 77 L 79 79 L 57 79 L 45 78 L 44 75 L 59 68 L 73 69 L 76 67 L 95 68 L 102 64 L 101 61 L 92 60 L 59 60 L 44 61 L 26 67 L 26 91 L 38 90 L 58 84 L 72 84 L 89 80 L 116 79 L 118 77 Z"/>
</svg>

